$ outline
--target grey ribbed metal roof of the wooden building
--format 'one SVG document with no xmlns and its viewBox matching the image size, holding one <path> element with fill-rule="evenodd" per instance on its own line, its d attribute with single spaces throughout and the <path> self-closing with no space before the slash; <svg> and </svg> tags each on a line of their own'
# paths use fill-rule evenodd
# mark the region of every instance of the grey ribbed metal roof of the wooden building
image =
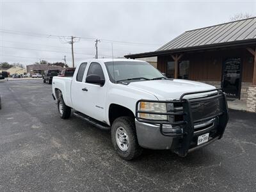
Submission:
<svg viewBox="0 0 256 192">
<path fill-rule="evenodd" d="M 241 42 L 244 43 L 244 40 L 255 40 L 255 38 L 256 17 L 186 31 L 180 36 L 177 36 L 177 38 L 157 49 L 157 51 L 186 49 L 188 47 L 207 45 L 224 45 L 234 42 L 238 44 Z"/>
</svg>

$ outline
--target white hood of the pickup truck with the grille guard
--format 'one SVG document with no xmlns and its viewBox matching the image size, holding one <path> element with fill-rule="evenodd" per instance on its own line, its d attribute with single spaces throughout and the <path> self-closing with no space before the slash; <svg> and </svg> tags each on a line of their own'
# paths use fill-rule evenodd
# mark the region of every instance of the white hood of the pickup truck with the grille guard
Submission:
<svg viewBox="0 0 256 192">
<path fill-rule="evenodd" d="M 152 81 L 136 81 L 129 83 L 130 87 L 137 88 L 143 92 L 155 95 L 159 100 L 173 100 L 179 99 L 183 93 L 200 92 L 215 89 L 209 84 L 200 83 L 196 81 L 188 81 L 184 79 L 170 79 L 170 80 L 152 80 Z M 199 93 L 195 95 L 188 95 L 184 98 L 195 98 L 208 95 L 209 93 Z"/>
</svg>

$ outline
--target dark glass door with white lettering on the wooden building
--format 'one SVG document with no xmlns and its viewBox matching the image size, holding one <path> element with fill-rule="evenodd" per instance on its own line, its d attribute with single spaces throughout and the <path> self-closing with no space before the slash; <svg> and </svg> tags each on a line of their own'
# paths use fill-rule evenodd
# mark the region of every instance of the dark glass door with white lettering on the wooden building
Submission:
<svg viewBox="0 0 256 192">
<path fill-rule="evenodd" d="M 240 97 L 241 58 L 228 58 L 224 62 L 222 88 L 229 97 Z"/>
</svg>

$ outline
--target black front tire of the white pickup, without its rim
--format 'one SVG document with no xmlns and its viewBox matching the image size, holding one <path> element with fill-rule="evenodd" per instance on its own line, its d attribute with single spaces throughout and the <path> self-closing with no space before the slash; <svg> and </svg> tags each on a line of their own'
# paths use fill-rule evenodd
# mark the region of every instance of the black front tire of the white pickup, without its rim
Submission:
<svg viewBox="0 0 256 192">
<path fill-rule="evenodd" d="M 129 147 L 126 151 L 120 150 L 116 143 L 116 129 L 118 129 L 118 127 L 123 127 L 128 134 Z M 130 116 L 116 118 L 111 126 L 111 140 L 117 154 L 123 159 L 131 161 L 141 155 L 143 149 L 138 144 L 134 118 L 131 118 Z"/>
</svg>

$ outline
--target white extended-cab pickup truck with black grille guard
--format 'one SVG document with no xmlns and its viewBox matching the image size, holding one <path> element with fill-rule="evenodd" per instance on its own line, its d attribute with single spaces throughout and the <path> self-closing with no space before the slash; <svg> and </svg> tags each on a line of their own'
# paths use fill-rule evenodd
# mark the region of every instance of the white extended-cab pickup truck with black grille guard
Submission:
<svg viewBox="0 0 256 192">
<path fill-rule="evenodd" d="M 168 79 L 145 61 L 88 60 L 73 77 L 53 77 L 52 97 L 61 118 L 73 115 L 111 130 L 119 156 L 138 157 L 143 148 L 179 156 L 223 136 L 228 122 L 225 93 L 214 86 Z"/>
</svg>

